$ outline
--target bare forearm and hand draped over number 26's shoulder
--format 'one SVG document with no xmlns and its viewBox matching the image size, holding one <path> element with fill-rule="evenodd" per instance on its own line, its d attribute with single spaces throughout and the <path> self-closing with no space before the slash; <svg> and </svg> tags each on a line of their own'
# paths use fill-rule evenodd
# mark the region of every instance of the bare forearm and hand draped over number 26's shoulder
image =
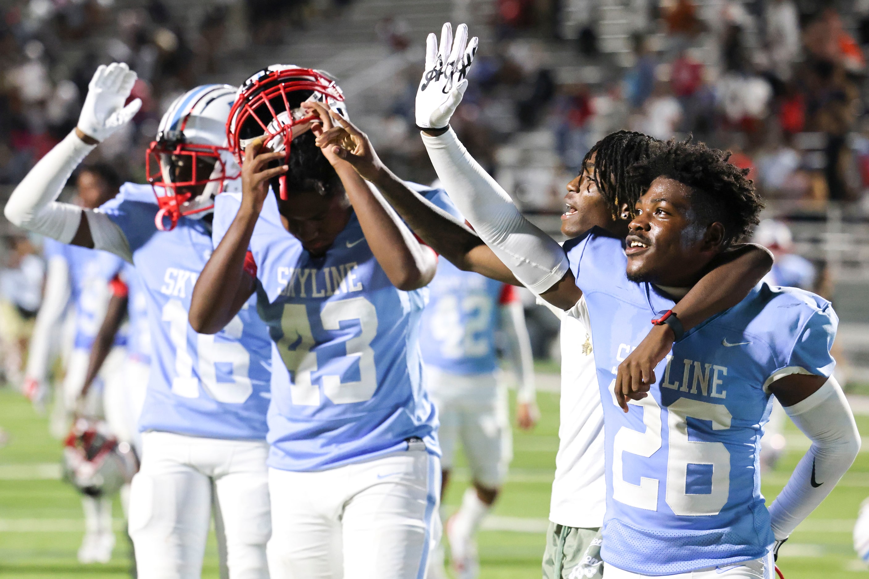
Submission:
<svg viewBox="0 0 869 579">
<path fill-rule="evenodd" d="M 773 254 L 766 247 L 746 243 L 721 253 L 673 313 L 687 332 L 703 320 L 736 306 L 773 267 Z M 671 326 L 652 326 L 640 345 L 619 365 L 614 393 L 623 411 L 627 398 L 646 398 L 655 382 L 654 368 L 673 348 L 676 335 Z"/>
</svg>

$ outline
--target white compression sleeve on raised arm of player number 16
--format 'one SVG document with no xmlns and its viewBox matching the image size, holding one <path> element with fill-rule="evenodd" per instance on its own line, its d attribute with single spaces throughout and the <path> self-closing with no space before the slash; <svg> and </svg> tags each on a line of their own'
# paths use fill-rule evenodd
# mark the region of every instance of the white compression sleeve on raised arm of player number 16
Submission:
<svg viewBox="0 0 869 579">
<path fill-rule="evenodd" d="M 18 183 L 3 209 L 6 219 L 18 227 L 69 243 L 82 221 L 82 208 L 55 200 L 94 147 L 79 139 L 75 131 L 66 135 Z"/>
</svg>

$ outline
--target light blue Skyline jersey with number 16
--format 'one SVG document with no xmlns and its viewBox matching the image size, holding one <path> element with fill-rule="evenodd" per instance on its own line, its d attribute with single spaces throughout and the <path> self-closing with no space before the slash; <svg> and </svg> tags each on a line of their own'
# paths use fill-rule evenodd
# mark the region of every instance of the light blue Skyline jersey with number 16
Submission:
<svg viewBox="0 0 869 579">
<path fill-rule="evenodd" d="M 221 332 L 194 332 L 190 296 L 211 256 L 211 232 L 186 217 L 159 231 L 157 209 L 153 189 L 133 183 L 99 209 L 126 235 L 147 302 L 151 372 L 139 429 L 265 438 L 271 345 L 255 298 Z"/>
</svg>

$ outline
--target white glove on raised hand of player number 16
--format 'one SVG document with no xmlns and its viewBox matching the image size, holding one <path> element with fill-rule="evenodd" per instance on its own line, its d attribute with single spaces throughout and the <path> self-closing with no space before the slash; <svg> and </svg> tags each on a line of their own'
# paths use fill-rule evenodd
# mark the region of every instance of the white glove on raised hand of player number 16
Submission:
<svg viewBox="0 0 869 579">
<path fill-rule="evenodd" d="M 142 108 L 141 99 L 123 106 L 135 83 L 136 73 L 126 64 L 101 64 L 88 84 L 78 129 L 96 141 L 104 141 L 128 123 Z"/>
</svg>

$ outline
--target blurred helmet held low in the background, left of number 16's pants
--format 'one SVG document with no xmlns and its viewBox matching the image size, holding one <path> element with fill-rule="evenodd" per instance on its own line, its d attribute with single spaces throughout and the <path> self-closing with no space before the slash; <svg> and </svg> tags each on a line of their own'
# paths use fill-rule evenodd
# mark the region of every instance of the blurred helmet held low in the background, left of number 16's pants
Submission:
<svg viewBox="0 0 869 579">
<path fill-rule="evenodd" d="M 111 496 L 139 470 L 136 453 L 108 424 L 79 418 L 63 444 L 63 478 L 90 497 Z"/>
</svg>

